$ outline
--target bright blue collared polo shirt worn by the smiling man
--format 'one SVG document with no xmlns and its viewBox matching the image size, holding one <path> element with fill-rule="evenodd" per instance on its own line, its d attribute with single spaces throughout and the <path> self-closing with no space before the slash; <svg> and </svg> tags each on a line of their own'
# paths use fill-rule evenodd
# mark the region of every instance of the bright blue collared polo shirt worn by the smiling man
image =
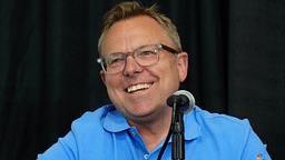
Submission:
<svg viewBox="0 0 285 160">
<path fill-rule="evenodd" d="M 186 160 L 271 160 L 248 120 L 195 107 L 184 121 Z M 149 152 L 136 128 L 109 104 L 75 120 L 38 160 L 156 160 L 163 144 Z M 171 160 L 171 139 L 163 160 Z"/>
</svg>

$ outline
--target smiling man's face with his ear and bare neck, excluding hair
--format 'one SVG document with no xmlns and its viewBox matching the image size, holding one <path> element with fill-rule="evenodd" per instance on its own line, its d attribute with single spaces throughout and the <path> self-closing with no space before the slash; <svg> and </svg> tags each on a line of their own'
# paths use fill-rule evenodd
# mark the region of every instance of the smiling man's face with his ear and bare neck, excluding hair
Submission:
<svg viewBox="0 0 285 160">
<path fill-rule="evenodd" d="M 114 23 L 102 42 L 102 61 L 119 59 L 105 68 L 116 66 L 116 73 L 101 71 L 109 98 L 128 123 L 137 128 L 149 151 L 167 136 L 171 108 L 166 99 L 187 76 L 187 53 L 173 53 L 164 47 L 175 44 L 154 18 L 144 14 Z M 122 54 L 114 56 L 118 53 Z M 126 53 L 131 56 L 122 58 Z M 117 68 L 121 70 L 117 72 Z"/>
</svg>

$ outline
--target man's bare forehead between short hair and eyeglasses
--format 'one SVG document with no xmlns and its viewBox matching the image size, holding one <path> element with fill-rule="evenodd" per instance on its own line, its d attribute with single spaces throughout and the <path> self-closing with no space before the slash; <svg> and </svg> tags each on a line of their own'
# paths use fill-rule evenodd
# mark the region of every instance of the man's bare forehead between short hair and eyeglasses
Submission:
<svg viewBox="0 0 285 160">
<path fill-rule="evenodd" d="M 120 20 L 109 29 L 102 46 L 102 56 L 112 52 L 130 52 L 145 44 L 165 43 L 171 40 L 165 29 L 148 16 Z"/>
</svg>

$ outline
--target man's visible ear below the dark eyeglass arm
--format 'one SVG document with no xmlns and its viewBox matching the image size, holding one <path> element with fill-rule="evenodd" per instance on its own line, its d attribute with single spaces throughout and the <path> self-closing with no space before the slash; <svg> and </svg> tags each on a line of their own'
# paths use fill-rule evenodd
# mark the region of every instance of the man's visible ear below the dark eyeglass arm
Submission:
<svg viewBox="0 0 285 160">
<path fill-rule="evenodd" d="M 180 52 L 177 54 L 177 64 L 179 81 L 183 82 L 188 74 L 188 54 L 186 52 Z"/>
</svg>

